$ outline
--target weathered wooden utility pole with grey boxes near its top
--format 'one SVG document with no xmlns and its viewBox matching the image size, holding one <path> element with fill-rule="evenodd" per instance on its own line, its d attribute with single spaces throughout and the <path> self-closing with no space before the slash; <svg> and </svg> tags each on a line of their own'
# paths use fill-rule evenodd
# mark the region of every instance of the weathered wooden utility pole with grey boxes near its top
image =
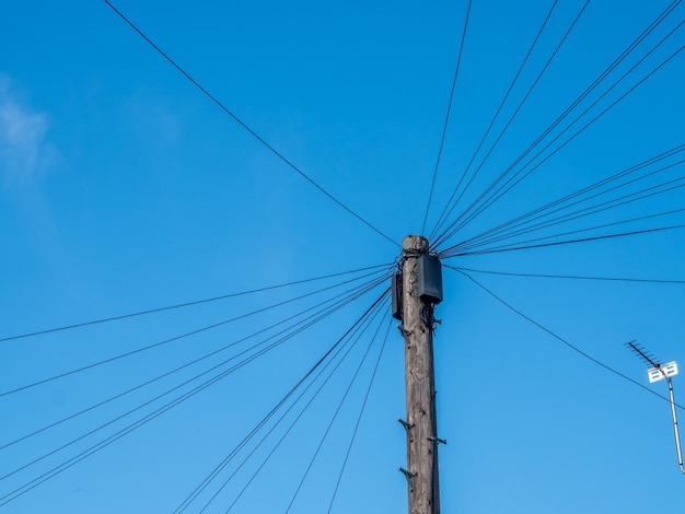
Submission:
<svg viewBox="0 0 685 514">
<path fill-rule="evenodd" d="M 402 294 L 395 291 L 402 299 L 396 317 L 400 312 L 405 338 L 407 419 L 400 422 L 407 431 L 407 469 L 400 470 L 407 477 L 409 514 L 440 513 L 438 444 L 444 441 L 438 439 L 437 433 L 433 307 L 442 301 L 442 281 L 440 261 L 429 256 L 428 249 L 428 240 L 423 236 L 404 238 L 402 280 L 397 278 Z M 431 294 L 436 282 L 439 282 L 439 293 Z"/>
</svg>

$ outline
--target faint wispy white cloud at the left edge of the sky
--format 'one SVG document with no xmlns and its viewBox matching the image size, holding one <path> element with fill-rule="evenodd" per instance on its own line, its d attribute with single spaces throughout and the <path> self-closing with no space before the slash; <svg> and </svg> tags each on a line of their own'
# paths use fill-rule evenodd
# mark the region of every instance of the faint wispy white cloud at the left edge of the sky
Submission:
<svg viewBox="0 0 685 514">
<path fill-rule="evenodd" d="M 0 174 L 10 184 L 31 184 L 55 160 L 47 142 L 47 115 L 22 104 L 12 94 L 9 77 L 0 74 Z"/>
</svg>

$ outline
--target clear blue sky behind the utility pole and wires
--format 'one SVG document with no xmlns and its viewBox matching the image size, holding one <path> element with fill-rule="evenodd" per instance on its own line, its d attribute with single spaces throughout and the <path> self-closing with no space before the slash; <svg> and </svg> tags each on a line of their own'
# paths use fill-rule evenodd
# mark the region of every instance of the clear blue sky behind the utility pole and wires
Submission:
<svg viewBox="0 0 685 514">
<path fill-rule="evenodd" d="M 427 235 L 465 170 L 479 167 L 448 223 L 479 201 L 672 5 L 589 2 L 516 113 L 583 4 L 555 5 L 488 131 L 553 2 L 473 2 Z M 325 308 L 338 294 L 353 295 L 344 308 L 27 490 L 4 511 L 173 512 L 306 376 L 288 397 L 302 393 L 302 399 L 270 418 L 185 512 L 206 504 L 206 512 L 288 512 L 289 505 L 289 512 L 327 512 L 371 381 L 330 512 L 403 512 L 406 482 L 397 467 L 406 463 L 405 439 L 396 422 L 405 409 L 403 341 L 387 299 L 358 339 L 335 347 L 344 349 L 336 359 L 345 359 L 323 367 L 325 360 L 306 374 L 390 284 L 385 273 L 402 238 L 421 232 L 467 2 L 115 5 L 269 145 L 387 237 L 270 152 L 105 2 L 27 0 L 3 7 L 0 502 L 225 370 L 208 371 L 213 366 L 264 348 L 240 353 L 252 344 L 278 341 L 278 330 L 302 319 L 293 316 Z M 531 167 L 544 160 L 539 167 L 438 250 L 685 143 L 685 56 L 678 52 L 685 8 L 673 5 L 522 161 L 578 117 L 532 162 Z M 643 178 L 614 182 L 597 191 L 624 185 L 556 215 L 657 195 L 464 253 L 682 225 L 681 161 L 678 150 L 629 176 Z M 577 232 L 592 227 L 599 229 Z M 522 243 L 536 237 L 549 238 Z M 445 265 L 480 271 L 685 280 L 682 229 L 446 255 Z M 520 314 L 464 274 L 443 269 L 445 301 L 437 308 L 442 324 L 436 337 L 440 436 L 448 440 L 440 448 L 443 512 L 637 513 L 664 505 L 682 511 L 685 477 L 677 468 L 669 404 L 626 377 L 661 395 L 666 386 L 649 385 L 647 366 L 624 343 L 637 340 L 662 361 L 685 366 L 683 283 L 466 272 Z M 376 278 L 372 291 L 350 292 Z M 219 326 L 24 388 L 213 325 Z M 674 379 L 676 400 L 685 398 L 681 379 Z"/>
</svg>

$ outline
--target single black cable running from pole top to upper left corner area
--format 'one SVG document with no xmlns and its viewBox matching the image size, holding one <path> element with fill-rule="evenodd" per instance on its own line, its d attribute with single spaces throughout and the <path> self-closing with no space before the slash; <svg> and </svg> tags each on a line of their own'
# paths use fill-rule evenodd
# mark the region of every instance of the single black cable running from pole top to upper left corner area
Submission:
<svg viewBox="0 0 685 514">
<path fill-rule="evenodd" d="M 321 192 L 323 192 L 326 197 L 328 197 L 330 200 L 333 200 L 335 203 L 338 205 L 338 207 L 341 207 L 344 210 L 346 210 L 348 213 L 350 213 L 351 215 L 353 215 L 355 218 L 357 218 L 359 221 L 361 221 L 364 225 L 367 225 L 369 229 L 371 229 L 373 232 L 375 232 L 376 234 L 379 234 L 380 236 L 384 237 L 385 240 L 390 241 L 392 244 L 394 244 L 395 246 L 400 246 L 402 245 L 399 243 L 397 243 L 396 241 L 394 241 L 393 238 L 391 238 L 390 236 L 387 236 L 386 234 L 384 234 L 383 232 L 381 232 L 379 229 L 376 229 L 375 226 L 373 226 L 371 223 L 369 223 L 367 220 L 364 220 L 360 214 L 358 214 L 357 212 L 355 212 L 352 209 L 350 209 L 349 207 L 347 207 L 345 203 L 342 203 L 340 200 L 338 200 L 336 197 L 334 197 L 330 192 L 328 192 L 326 189 L 324 189 L 321 185 L 318 185 L 312 177 L 310 177 L 307 174 L 305 174 L 302 170 L 300 170 L 300 167 L 298 167 L 294 163 L 292 163 L 291 161 L 289 161 L 282 153 L 280 153 L 278 150 L 276 150 L 274 147 L 271 147 L 271 144 L 269 144 L 264 138 L 262 138 L 262 136 L 259 136 L 257 132 L 255 132 L 252 128 L 249 128 L 249 126 L 247 124 L 245 124 L 242 119 L 240 119 L 237 117 L 237 115 L 235 115 L 232 110 L 230 110 L 225 105 L 223 105 L 216 96 L 213 96 L 209 91 L 207 91 L 202 85 L 200 85 L 199 82 L 197 82 L 186 70 L 184 70 L 181 65 L 178 65 L 174 59 L 172 59 L 166 52 L 164 52 L 164 50 L 162 50 L 156 44 L 154 44 L 152 42 L 152 39 L 150 39 L 140 28 L 138 28 L 133 22 L 131 22 L 128 17 L 126 17 L 124 15 L 124 13 L 121 11 L 119 11 L 117 8 L 115 8 L 109 0 L 104 0 L 104 2 L 109 5 L 109 8 L 112 8 L 112 10 L 117 13 L 119 15 L 119 17 L 121 17 L 121 20 L 124 20 L 133 31 L 136 31 L 138 33 L 138 35 L 140 35 L 140 37 L 142 37 L 146 43 L 148 43 L 152 48 L 154 48 L 154 50 L 156 50 L 158 54 L 160 54 L 164 59 L 166 59 L 166 61 L 172 65 L 174 68 L 176 68 L 176 70 L 178 70 L 186 79 L 188 79 L 188 81 L 190 81 L 190 83 L 193 85 L 195 85 L 198 90 L 200 90 L 209 100 L 211 100 L 217 106 L 219 106 L 219 108 L 221 108 L 221 110 L 223 110 L 225 114 L 228 114 L 231 118 L 233 118 L 234 121 L 236 121 L 241 127 L 243 127 L 253 138 L 255 138 L 257 141 L 259 141 L 267 150 L 269 150 L 274 155 L 276 155 L 278 159 L 280 159 L 285 164 L 287 164 L 291 170 L 293 170 L 294 172 L 297 172 L 302 178 L 304 178 L 306 182 L 309 182 L 312 186 L 314 186 L 316 189 L 318 189 Z"/>
</svg>

